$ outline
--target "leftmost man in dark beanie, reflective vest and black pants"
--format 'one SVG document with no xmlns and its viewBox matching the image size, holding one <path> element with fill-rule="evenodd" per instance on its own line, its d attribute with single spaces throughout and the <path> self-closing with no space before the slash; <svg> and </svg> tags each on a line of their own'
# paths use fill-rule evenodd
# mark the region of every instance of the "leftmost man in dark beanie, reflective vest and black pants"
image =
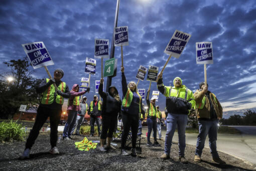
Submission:
<svg viewBox="0 0 256 171">
<path fill-rule="evenodd" d="M 68 85 L 61 80 L 63 75 L 64 71 L 61 68 L 57 68 L 54 71 L 54 78 L 46 78 L 44 82 L 36 87 L 37 93 L 41 93 L 40 104 L 37 109 L 36 121 L 27 139 L 25 150 L 20 155 L 20 159 L 29 158 L 30 149 L 35 143 L 39 131 L 48 117 L 50 117 L 50 141 L 52 146 L 49 152 L 51 154 L 59 154 L 59 150 L 56 147 L 58 124 L 62 113 L 64 98 L 69 98 L 70 96 Z M 55 90 L 53 83 L 56 83 L 58 87 L 57 91 Z"/>
</svg>

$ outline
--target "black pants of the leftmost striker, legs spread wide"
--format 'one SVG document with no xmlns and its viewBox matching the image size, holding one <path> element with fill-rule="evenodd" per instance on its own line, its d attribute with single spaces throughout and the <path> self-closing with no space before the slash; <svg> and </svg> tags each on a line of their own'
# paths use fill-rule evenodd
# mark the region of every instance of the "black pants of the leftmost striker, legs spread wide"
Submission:
<svg viewBox="0 0 256 171">
<path fill-rule="evenodd" d="M 35 140 L 39 134 L 40 129 L 44 125 L 46 119 L 50 117 L 50 138 L 51 138 L 51 146 L 56 146 L 57 138 L 58 138 L 58 124 L 60 121 L 60 116 L 62 113 L 62 109 L 52 109 L 47 107 L 39 106 L 37 109 L 37 117 L 34 123 L 34 126 L 29 134 L 29 137 L 26 142 L 26 148 L 30 148 L 35 143 Z"/>
</svg>

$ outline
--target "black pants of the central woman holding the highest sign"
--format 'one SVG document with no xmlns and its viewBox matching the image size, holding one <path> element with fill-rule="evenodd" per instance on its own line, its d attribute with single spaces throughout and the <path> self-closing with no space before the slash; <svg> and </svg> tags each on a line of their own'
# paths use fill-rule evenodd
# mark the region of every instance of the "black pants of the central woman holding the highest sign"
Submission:
<svg viewBox="0 0 256 171">
<path fill-rule="evenodd" d="M 121 148 L 125 148 L 125 143 L 127 136 L 129 134 L 130 128 L 132 130 L 132 146 L 136 147 L 138 126 L 139 126 L 139 114 L 122 114 L 123 132 L 121 139 Z"/>
</svg>

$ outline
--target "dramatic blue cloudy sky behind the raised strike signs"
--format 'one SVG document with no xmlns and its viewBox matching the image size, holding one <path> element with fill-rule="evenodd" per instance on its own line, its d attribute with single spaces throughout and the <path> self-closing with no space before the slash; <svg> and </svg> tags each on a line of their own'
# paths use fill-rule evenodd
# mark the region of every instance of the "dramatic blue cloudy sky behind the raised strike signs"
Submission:
<svg viewBox="0 0 256 171">
<path fill-rule="evenodd" d="M 94 38 L 112 39 L 116 0 L 1 0 L 0 72 L 4 61 L 26 56 L 21 44 L 43 41 L 55 63 L 63 68 L 63 80 L 71 88 L 80 83 L 86 56 L 94 56 Z M 203 81 L 203 65 L 196 64 L 195 43 L 212 41 L 214 64 L 207 65 L 209 90 L 225 110 L 256 106 L 256 1 L 255 0 L 120 0 L 118 26 L 129 26 L 129 46 L 123 47 L 127 81 L 135 80 L 140 65 L 163 67 L 164 49 L 175 29 L 192 36 L 179 59 L 172 57 L 164 71 L 164 84 L 180 76 L 192 91 Z M 112 84 L 121 92 L 120 47 L 117 76 Z M 31 69 L 33 69 L 31 67 Z M 35 77 L 47 77 L 44 68 Z M 91 76 L 89 99 L 100 79 L 100 59 Z M 105 79 L 106 80 L 106 79 Z M 105 81 L 106 82 L 106 81 Z M 148 88 L 149 81 L 139 83 Z M 152 83 L 151 90 L 157 90 Z M 160 95 L 160 108 L 165 97 Z"/>
</svg>

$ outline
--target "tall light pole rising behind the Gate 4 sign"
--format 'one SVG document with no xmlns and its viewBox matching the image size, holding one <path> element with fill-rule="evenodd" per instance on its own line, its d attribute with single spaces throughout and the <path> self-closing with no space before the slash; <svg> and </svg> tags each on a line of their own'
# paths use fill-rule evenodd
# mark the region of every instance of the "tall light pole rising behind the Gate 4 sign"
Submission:
<svg viewBox="0 0 256 171">
<path fill-rule="evenodd" d="M 120 0 L 116 0 L 115 17 L 114 17 L 114 28 L 117 26 L 119 3 L 120 3 Z M 110 50 L 109 58 L 113 58 L 114 57 L 114 28 L 113 28 L 113 35 L 112 35 L 111 50 Z M 112 76 L 108 76 L 107 77 L 107 83 L 106 83 L 106 91 L 108 91 L 108 88 L 111 85 L 111 83 L 112 83 Z"/>
</svg>

